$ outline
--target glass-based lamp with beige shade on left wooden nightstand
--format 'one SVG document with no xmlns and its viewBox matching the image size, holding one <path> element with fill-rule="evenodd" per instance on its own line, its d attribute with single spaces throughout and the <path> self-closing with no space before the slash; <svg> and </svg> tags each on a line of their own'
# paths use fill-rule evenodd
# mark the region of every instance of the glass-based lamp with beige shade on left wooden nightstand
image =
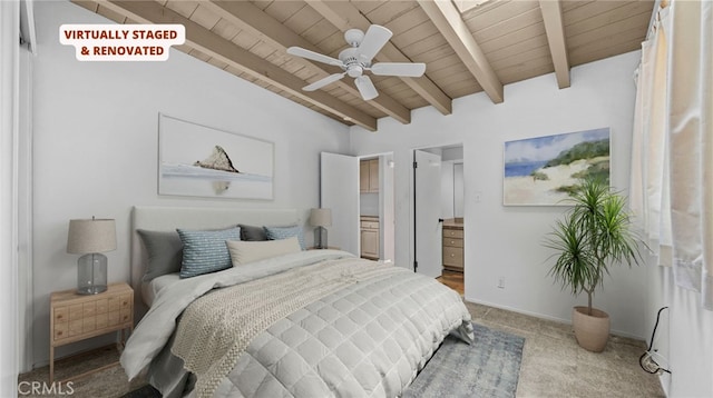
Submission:
<svg viewBox="0 0 713 398">
<path fill-rule="evenodd" d="M 116 222 L 111 219 L 69 220 L 67 252 L 82 255 L 77 260 L 77 293 L 97 295 L 107 290 L 107 257 L 116 250 Z"/>
</svg>

